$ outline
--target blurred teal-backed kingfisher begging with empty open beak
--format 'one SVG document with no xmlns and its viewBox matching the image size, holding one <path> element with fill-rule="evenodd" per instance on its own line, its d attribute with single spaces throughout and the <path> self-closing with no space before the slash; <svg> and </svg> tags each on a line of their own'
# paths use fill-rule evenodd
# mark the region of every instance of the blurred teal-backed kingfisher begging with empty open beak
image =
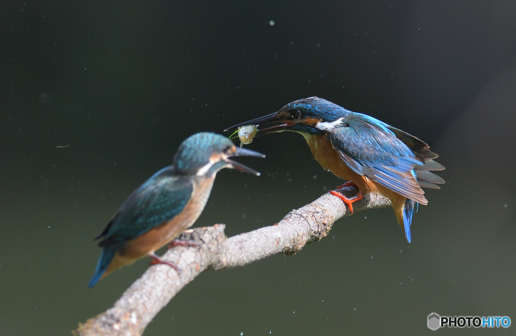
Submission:
<svg viewBox="0 0 516 336">
<path fill-rule="evenodd" d="M 171 166 L 156 172 L 120 206 L 102 233 L 102 252 L 89 283 L 148 255 L 153 264 L 177 266 L 154 251 L 171 243 L 199 218 L 212 191 L 215 175 L 222 168 L 259 172 L 230 159 L 233 156 L 265 155 L 237 148 L 222 135 L 197 133 L 179 146 Z"/>
</svg>

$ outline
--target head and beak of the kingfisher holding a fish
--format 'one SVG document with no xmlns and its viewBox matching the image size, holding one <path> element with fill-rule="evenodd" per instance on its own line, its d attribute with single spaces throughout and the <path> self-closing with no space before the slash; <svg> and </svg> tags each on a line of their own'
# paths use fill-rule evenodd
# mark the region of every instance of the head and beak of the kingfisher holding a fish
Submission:
<svg viewBox="0 0 516 336">
<path fill-rule="evenodd" d="M 310 97 L 288 103 L 275 113 L 239 123 L 224 131 L 244 125 L 259 125 L 256 135 L 282 131 L 318 135 L 331 131 L 348 112 L 325 99 Z"/>
</svg>

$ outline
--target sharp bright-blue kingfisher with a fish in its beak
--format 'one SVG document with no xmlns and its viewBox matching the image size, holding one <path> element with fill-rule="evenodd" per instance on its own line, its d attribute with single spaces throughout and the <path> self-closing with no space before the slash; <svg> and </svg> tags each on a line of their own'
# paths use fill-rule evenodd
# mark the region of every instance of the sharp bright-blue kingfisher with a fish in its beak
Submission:
<svg viewBox="0 0 516 336">
<path fill-rule="evenodd" d="M 264 125 L 278 123 L 264 128 Z M 355 113 L 325 99 L 296 100 L 270 115 L 229 127 L 260 126 L 255 135 L 292 131 L 307 141 L 312 155 L 325 170 L 357 186 L 359 193 L 347 198 L 332 190 L 353 213 L 352 203 L 374 193 L 388 198 L 398 223 L 411 242 L 412 214 L 428 204 L 422 187 L 439 189 L 444 180 L 431 171 L 444 167 L 420 139 L 373 117 Z M 254 135 L 253 135 L 254 136 Z M 251 138 L 252 140 L 252 138 Z M 342 187 L 342 186 L 341 186 Z M 337 188 L 338 189 L 338 188 Z"/>
</svg>

